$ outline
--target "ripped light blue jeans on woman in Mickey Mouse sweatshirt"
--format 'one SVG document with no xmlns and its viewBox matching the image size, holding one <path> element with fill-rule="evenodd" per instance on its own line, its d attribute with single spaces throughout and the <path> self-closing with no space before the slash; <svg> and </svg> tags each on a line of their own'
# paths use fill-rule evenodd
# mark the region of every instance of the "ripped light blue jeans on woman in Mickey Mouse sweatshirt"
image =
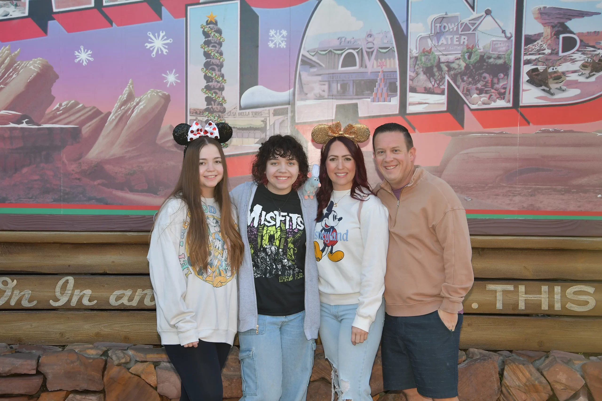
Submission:
<svg viewBox="0 0 602 401">
<path fill-rule="evenodd" d="M 324 355 L 332 364 L 332 386 L 338 399 L 372 401 L 370 375 L 380 344 L 385 321 L 385 302 L 382 302 L 376 320 L 370 325 L 368 340 L 353 345 L 351 325 L 358 304 L 329 305 L 320 302 L 320 339 Z"/>
</svg>

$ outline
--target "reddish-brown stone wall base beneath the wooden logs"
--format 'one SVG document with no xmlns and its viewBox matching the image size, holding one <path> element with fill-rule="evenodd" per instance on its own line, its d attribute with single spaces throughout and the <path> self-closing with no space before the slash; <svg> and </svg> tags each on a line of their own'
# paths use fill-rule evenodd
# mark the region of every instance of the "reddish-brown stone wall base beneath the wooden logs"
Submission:
<svg viewBox="0 0 602 401">
<path fill-rule="evenodd" d="M 458 352 L 460 401 L 602 401 L 602 356 L 553 350 Z M 330 364 L 316 346 L 308 401 L 329 401 Z M 224 400 L 242 396 L 238 346 L 222 371 Z M 370 379 L 373 400 L 407 401 L 386 393 L 380 349 Z M 0 401 L 171 401 L 180 379 L 163 347 L 124 343 L 0 344 Z"/>
</svg>

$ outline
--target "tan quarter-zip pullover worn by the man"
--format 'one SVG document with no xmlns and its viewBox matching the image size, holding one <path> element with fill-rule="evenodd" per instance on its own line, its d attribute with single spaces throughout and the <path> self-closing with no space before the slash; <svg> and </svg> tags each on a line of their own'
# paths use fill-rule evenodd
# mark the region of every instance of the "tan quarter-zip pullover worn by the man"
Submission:
<svg viewBox="0 0 602 401">
<path fill-rule="evenodd" d="M 386 181 L 374 192 L 389 210 L 386 313 L 461 311 L 474 276 L 466 212 L 456 193 L 420 166 L 399 200 Z"/>
</svg>

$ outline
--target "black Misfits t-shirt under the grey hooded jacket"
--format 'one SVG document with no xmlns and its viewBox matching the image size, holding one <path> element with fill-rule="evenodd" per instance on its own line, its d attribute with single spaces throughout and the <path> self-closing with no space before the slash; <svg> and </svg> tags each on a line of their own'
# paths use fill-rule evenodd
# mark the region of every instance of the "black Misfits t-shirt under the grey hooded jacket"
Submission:
<svg viewBox="0 0 602 401">
<path fill-rule="evenodd" d="M 248 217 L 257 313 L 288 316 L 305 310 L 305 222 L 299 195 L 277 195 L 259 185 Z"/>
</svg>

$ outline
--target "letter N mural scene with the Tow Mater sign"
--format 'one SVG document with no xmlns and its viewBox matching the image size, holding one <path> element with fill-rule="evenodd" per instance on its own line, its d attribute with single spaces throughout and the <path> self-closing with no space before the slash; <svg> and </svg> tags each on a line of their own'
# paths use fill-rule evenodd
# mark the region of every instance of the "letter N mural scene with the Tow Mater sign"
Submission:
<svg viewBox="0 0 602 401">
<path fill-rule="evenodd" d="M 512 103 L 514 13 L 480 0 L 410 2 L 408 112 L 447 109 L 448 85 L 471 108 Z"/>
</svg>

